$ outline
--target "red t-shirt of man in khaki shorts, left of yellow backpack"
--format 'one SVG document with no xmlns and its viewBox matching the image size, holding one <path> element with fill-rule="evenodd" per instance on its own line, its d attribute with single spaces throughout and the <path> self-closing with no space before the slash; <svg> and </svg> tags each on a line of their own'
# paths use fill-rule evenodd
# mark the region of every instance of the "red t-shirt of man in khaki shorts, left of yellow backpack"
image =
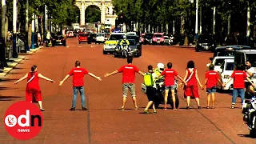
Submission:
<svg viewBox="0 0 256 144">
<path fill-rule="evenodd" d="M 128 64 L 118 69 L 118 73 L 122 72 L 122 83 L 134 83 L 135 72 L 138 73 L 138 68 L 134 65 Z"/>
</svg>

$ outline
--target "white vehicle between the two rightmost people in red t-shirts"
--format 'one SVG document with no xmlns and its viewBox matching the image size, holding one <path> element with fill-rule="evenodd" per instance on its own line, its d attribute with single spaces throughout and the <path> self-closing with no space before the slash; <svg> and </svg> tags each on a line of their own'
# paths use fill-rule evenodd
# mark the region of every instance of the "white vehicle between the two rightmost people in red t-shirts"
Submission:
<svg viewBox="0 0 256 144">
<path fill-rule="evenodd" d="M 234 71 L 234 58 L 233 59 L 225 59 L 224 63 L 220 67 L 219 78 L 221 79 L 222 83 L 226 83 L 228 79 L 230 79 L 231 74 Z M 226 83 L 225 87 L 222 87 L 221 84 L 218 82 L 218 89 L 220 90 L 233 90 L 233 82 L 232 79 L 230 82 Z"/>
</svg>

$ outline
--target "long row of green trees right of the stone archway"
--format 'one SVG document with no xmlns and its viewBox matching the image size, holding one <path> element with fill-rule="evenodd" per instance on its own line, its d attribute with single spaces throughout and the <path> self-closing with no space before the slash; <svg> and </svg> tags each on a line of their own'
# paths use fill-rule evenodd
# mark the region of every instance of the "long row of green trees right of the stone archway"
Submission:
<svg viewBox="0 0 256 144">
<path fill-rule="evenodd" d="M 146 26 L 159 26 L 181 22 L 184 18 L 190 27 L 194 27 L 195 3 L 196 0 L 112 0 L 117 14 L 123 15 L 124 22 L 138 22 Z M 193 2 L 193 3 L 192 3 Z M 255 0 L 198 0 L 198 7 L 202 7 L 202 23 L 212 25 L 213 8 L 216 8 L 216 22 L 218 25 L 227 28 L 228 16 L 235 15 L 232 22 L 245 23 L 246 30 L 246 10 L 250 6 L 251 21 L 255 21 L 256 1 Z M 199 12 L 199 10 L 198 10 Z M 236 19 L 236 20 L 234 20 Z M 233 24 L 231 22 L 231 24 Z M 179 23 L 180 24 L 180 23 Z M 180 26 L 179 26 L 180 27 Z M 189 26 L 186 26 L 189 28 Z M 234 27 L 234 26 L 233 26 Z M 223 30 L 221 30 L 223 31 Z"/>
</svg>

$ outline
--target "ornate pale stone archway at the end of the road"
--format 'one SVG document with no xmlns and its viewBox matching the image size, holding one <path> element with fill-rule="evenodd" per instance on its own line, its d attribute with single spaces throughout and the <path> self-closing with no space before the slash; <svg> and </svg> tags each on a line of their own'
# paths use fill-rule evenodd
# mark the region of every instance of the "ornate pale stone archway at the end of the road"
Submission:
<svg viewBox="0 0 256 144">
<path fill-rule="evenodd" d="M 75 0 L 74 5 L 78 6 L 80 10 L 80 26 L 86 25 L 86 8 L 94 5 L 98 6 L 101 10 L 101 23 L 110 21 L 114 25 L 117 15 L 114 14 L 113 5 L 111 0 Z"/>
</svg>

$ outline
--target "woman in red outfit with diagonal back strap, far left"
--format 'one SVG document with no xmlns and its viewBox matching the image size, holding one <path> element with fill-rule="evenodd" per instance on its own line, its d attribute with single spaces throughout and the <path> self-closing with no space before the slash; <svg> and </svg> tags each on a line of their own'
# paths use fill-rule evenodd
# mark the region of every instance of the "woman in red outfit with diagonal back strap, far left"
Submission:
<svg viewBox="0 0 256 144">
<path fill-rule="evenodd" d="M 45 111 L 42 108 L 42 94 L 39 86 L 39 78 L 45 79 L 46 81 L 50 81 L 54 83 L 54 80 L 50 78 L 46 78 L 42 76 L 42 74 L 38 74 L 38 66 L 32 66 L 31 72 L 27 73 L 24 77 L 20 78 L 14 84 L 27 79 L 26 82 L 26 102 L 38 102 L 41 111 Z"/>
</svg>

